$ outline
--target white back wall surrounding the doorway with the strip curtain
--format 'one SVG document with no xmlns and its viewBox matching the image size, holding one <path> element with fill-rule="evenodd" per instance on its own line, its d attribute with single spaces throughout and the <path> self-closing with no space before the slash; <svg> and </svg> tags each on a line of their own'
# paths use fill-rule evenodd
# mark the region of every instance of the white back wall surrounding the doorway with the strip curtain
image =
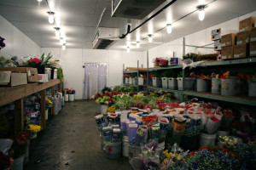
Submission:
<svg viewBox="0 0 256 170">
<path fill-rule="evenodd" d="M 142 63 L 142 52 L 131 52 L 117 50 L 99 50 L 67 48 L 42 48 L 42 53 L 51 53 L 61 59 L 61 66 L 64 71 L 64 88 L 76 90 L 76 99 L 82 99 L 84 87 L 84 63 L 107 63 L 108 75 L 107 85 L 113 87 L 122 84 L 123 64 L 136 67 L 137 60 Z"/>
</svg>

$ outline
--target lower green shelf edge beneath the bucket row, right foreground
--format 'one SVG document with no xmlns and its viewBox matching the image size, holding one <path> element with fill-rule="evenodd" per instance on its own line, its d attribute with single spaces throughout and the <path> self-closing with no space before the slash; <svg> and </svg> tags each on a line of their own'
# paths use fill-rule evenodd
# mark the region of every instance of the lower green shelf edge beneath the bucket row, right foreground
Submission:
<svg viewBox="0 0 256 170">
<path fill-rule="evenodd" d="M 224 96 L 220 94 L 202 93 L 190 90 L 184 91 L 183 94 L 206 99 L 216 99 L 220 101 L 232 102 L 241 105 L 256 105 L 256 98 L 249 96 Z"/>
</svg>

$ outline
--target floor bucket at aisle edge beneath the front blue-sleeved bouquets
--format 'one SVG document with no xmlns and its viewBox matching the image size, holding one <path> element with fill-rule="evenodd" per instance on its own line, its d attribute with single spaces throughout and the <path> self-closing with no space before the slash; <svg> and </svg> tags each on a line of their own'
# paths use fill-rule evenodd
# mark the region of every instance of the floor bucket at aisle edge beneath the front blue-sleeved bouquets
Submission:
<svg viewBox="0 0 256 170">
<path fill-rule="evenodd" d="M 108 143 L 104 146 L 105 155 L 109 159 L 117 159 L 121 156 L 122 142 L 119 143 Z"/>
</svg>

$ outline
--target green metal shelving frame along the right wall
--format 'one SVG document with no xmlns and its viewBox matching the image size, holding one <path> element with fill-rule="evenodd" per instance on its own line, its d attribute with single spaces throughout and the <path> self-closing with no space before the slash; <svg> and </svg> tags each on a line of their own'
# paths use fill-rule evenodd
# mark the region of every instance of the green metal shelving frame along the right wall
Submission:
<svg viewBox="0 0 256 170">
<path fill-rule="evenodd" d="M 186 47 L 195 47 L 195 48 L 210 48 L 210 47 L 204 47 L 204 46 L 194 46 L 194 45 L 186 45 L 185 43 L 185 37 L 183 37 L 183 55 L 185 55 L 185 48 Z M 218 65 L 251 65 L 256 64 L 256 58 L 247 58 L 247 59 L 232 59 L 232 60 L 224 60 L 224 61 L 212 61 L 212 62 L 203 62 L 200 65 L 197 65 L 197 67 L 208 67 L 208 66 L 218 66 Z M 147 68 L 148 68 L 148 52 L 147 52 Z M 173 65 L 173 66 L 167 66 L 167 67 L 154 67 L 154 68 L 148 68 L 148 71 L 160 71 L 160 70 L 169 70 L 169 69 L 183 69 L 183 65 Z M 147 71 L 147 77 L 148 77 L 148 71 Z M 185 75 L 185 69 L 183 69 L 183 78 Z M 147 78 L 147 85 L 148 85 L 148 78 Z M 184 87 L 184 81 L 183 81 L 183 87 Z M 241 105 L 251 105 L 256 106 L 256 98 L 248 97 L 248 96 L 224 96 L 219 94 L 210 94 L 210 93 L 201 93 L 196 91 L 184 91 L 183 90 L 172 90 L 168 88 L 154 88 L 149 87 L 148 89 L 152 90 L 164 90 L 166 92 L 172 92 L 172 93 L 179 93 L 182 94 L 184 100 L 184 95 L 190 95 L 205 99 L 215 99 L 219 101 L 225 101 L 225 102 L 231 102 Z"/>
</svg>

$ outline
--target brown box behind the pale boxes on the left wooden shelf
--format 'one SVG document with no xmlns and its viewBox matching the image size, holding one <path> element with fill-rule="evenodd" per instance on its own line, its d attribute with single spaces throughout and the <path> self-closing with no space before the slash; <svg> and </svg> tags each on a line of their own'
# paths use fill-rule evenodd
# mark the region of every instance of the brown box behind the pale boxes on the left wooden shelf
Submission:
<svg viewBox="0 0 256 170">
<path fill-rule="evenodd" d="M 0 71 L 26 72 L 27 82 L 38 82 L 38 69 L 32 67 L 0 67 Z"/>
</svg>

